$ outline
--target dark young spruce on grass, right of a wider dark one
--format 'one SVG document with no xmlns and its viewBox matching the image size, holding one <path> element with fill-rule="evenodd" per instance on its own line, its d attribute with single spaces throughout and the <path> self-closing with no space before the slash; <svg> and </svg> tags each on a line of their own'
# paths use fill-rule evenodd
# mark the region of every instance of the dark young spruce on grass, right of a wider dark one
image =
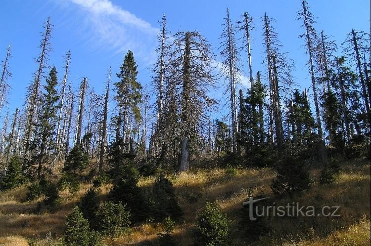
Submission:
<svg viewBox="0 0 371 246">
<path fill-rule="evenodd" d="M 182 209 L 178 205 L 173 184 L 163 174 L 160 174 L 153 184 L 152 217 L 161 221 L 168 215 L 173 218 L 182 216 Z"/>
</svg>

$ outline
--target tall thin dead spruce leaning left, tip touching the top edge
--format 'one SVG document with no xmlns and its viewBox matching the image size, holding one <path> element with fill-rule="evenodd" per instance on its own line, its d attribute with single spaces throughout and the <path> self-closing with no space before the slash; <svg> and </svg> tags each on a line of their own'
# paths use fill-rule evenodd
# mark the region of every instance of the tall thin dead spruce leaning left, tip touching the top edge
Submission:
<svg viewBox="0 0 371 246">
<path fill-rule="evenodd" d="M 320 158 L 323 163 L 326 162 L 326 153 L 325 153 L 325 141 L 324 134 L 322 131 L 322 122 L 321 122 L 321 112 L 320 105 L 318 100 L 318 89 L 316 85 L 316 75 L 315 75 L 315 54 L 316 54 L 316 45 L 318 42 L 318 34 L 316 29 L 313 27 L 315 24 L 314 16 L 309 10 L 308 2 L 302 0 L 302 8 L 298 13 L 298 20 L 303 21 L 303 28 L 305 30 L 304 34 L 299 35 L 299 38 L 304 39 L 306 46 L 306 53 L 308 54 L 308 64 L 309 64 L 309 73 L 312 81 L 313 97 L 316 108 L 316 120 L 318 127 L 318 138 L 319 138 L 319 149 L 320 149 Z"/>
</svg>

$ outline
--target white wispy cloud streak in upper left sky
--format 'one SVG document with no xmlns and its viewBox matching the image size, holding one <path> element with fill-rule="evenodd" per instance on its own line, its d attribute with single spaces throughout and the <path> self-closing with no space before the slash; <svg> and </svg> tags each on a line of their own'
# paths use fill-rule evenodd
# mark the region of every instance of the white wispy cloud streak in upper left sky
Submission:
<svg viewBox="0 0 371 246">
<path fill-rule="evenodd" d="M 89 28 L 90 36 L 86 38 L 94 48 L 109 48 L 115 53 L 131 49 L 142 57 L 153 49 L 159 29 L 112 1 L 69 0 L 69 3 L 83 10 L 87 21 L 84 28 Z"/>
</svg>

